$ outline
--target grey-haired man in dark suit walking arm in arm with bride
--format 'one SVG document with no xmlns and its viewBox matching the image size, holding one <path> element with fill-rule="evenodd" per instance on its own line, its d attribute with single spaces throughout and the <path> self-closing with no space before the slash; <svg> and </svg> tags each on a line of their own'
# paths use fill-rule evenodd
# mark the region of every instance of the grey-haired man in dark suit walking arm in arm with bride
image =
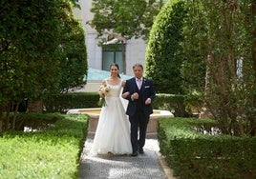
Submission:
<svg viewBox="0 0 256 179">
<path fill-rule="evenodd" d="M 133 70 L 135 77 L 126 81 L 122 96 L 129 101 L 126 114 L 129 115 L 131 123 L 132 156 L 137 156 L 138 151 L 139 153 L 144 152 L 147 124 L 150 114 L 153 113 L 151 103 L 156 92 L 153 81 L 143 77 L 143 66 L 141 64 L 135 64 Z"/>
</svg>

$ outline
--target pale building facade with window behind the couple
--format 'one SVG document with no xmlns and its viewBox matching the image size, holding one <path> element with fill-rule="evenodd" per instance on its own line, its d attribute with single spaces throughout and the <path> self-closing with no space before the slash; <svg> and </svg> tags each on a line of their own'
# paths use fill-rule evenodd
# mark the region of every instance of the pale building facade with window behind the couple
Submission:
<svg viewBox="0 0 256 179">
<path fill-rule="evenodd" d="M 79 0 L 80 10 L 75 9 L 75 17 L 80 19 L 85 30 L 85 44 L 88 53 L 88 66 L 96 70 L 109 70 L 111 63 L 117 63 L 120 73 L 133 75 L 132 66 L 135 63 L 144 65 L 146 43 L 142 39 L 131 39 L 125 44 L 126 70 L 122 69 L 122 55 L 119 48 L 111 48 L 110 45 L 98 46 L 100 39 L 97 39 L 96 30 L 92 29 L 86 22 L 93 19 L 92 0 Z"/>
</svg>

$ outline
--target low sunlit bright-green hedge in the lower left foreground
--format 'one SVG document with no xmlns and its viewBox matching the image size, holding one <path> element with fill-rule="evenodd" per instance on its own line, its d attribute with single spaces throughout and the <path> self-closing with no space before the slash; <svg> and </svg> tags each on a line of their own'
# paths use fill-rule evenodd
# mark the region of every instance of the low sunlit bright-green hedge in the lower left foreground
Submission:
<svg viewBox="0 0 256 179">
<path fill-rule="evenodd" d="M 77 177 L 89 120 L 86 115 L 51 115 L 57 121 L 49 129 L 1 133 L 1 178 Z"/>
</svg>

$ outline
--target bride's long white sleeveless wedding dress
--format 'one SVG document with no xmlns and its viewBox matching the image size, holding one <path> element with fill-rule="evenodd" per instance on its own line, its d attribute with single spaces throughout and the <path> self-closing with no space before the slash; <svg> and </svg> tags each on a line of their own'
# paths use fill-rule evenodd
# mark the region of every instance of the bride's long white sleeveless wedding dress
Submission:
<svg viewBox="0 0 256 179">
<path fill-rule="evenodd" d="M 130 154 L 132 145 L 130 140 L 130 123 L 125 114 L 125 107 L 120 98 L 121 82 L 118 85 L 110 85 L 106 105 L 102 107 L 93 147 L 91 153 L 96 154 Z M 123 100 L 123 99 L 122 99 Z"/>
</svg>

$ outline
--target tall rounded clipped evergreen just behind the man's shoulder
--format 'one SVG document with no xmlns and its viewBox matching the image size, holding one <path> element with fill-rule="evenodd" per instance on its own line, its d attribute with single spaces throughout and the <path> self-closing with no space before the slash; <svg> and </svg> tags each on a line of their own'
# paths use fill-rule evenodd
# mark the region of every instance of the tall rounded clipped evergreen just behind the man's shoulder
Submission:
<svg viewBox="0 0 256 179">
<path fill-rule="evenodd" d="M 146 50 L 145 74 L 153 78 L 157 92 L 182 93 L 180 69 L 184 57 L 180 43 L 185 16 L 184 2 L 170 1 L 154 21 Z"/>
</svg>

